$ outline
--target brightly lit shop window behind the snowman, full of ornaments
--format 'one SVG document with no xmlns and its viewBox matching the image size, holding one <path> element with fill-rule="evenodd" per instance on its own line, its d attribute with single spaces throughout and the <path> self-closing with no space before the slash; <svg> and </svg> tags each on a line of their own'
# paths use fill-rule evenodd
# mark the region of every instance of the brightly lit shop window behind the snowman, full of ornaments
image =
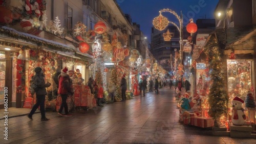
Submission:
<svg viewBox="0 0 256 144">
<path fill-rule="evenodd" d="M 237 94 L 246 96 L 252 88 L 252 61 L 227 60 L 227 87 L 228 96 L 233 98 Z"/>
</svg>

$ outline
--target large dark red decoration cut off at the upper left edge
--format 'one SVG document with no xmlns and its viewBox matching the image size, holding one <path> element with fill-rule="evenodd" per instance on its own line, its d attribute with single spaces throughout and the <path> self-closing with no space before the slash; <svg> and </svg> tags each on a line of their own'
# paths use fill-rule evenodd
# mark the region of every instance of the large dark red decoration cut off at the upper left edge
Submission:
<svg viewBox="0 0 256 144">
<path fill-rule="evenodd" d="M 12 11 L 6 7 L 0 6 L 0 23 L 12 23 Z"/>
</svg>

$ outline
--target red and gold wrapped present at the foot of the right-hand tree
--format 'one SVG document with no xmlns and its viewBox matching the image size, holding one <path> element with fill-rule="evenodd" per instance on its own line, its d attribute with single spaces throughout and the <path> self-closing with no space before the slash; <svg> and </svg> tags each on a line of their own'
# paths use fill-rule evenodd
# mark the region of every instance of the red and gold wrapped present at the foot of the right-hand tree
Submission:
<svg viewBox="0 0 256 144">
<path fill-rule="evenodd" d="M 195 118 L 194 126 L 201 127 L 201 128 L 212 127 L 212 126 L 214 126 L 214 119 L 197 117 L 197 118 Z"/>
</svg>

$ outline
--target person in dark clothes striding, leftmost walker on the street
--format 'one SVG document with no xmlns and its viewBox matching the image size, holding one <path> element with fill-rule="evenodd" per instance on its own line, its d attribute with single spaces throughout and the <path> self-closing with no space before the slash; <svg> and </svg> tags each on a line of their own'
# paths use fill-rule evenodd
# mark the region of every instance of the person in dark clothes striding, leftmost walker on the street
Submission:
<svg viewBox="0 0 256 144">
<path fill-rule="evenodd" d="M 50 82 L 45 83 L 45 74 L 44 71 L 40 67 L 36 67 L 34 69 L 35 76 L 33 77 L 33 83 L 37 86 L 36 93 L 36 104 L 31 109 L 30 113 L 28 114 L 28 118 L 32 119 L 33 114 L 35 113 L 38 106 L 40 106 L 41 111 L 41 121 L 48 121 L 49 119 L 46 118 L 45 112 L 45 99 L 46 99 L 46 88 L 51 86 Z"/>
</svg>

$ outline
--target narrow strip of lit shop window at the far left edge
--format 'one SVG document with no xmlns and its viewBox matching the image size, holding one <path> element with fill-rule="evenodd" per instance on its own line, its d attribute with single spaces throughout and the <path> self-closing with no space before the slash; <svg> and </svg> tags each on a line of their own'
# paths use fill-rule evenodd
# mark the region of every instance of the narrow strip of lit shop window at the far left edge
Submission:
<svg viewBox="0 0 256 144">
<path fill-rule="evenodd" d="M 4 104 L 4 87 L 5 87 L 5 52 L 0 51 L 0 105 Z"/>
</svg>

